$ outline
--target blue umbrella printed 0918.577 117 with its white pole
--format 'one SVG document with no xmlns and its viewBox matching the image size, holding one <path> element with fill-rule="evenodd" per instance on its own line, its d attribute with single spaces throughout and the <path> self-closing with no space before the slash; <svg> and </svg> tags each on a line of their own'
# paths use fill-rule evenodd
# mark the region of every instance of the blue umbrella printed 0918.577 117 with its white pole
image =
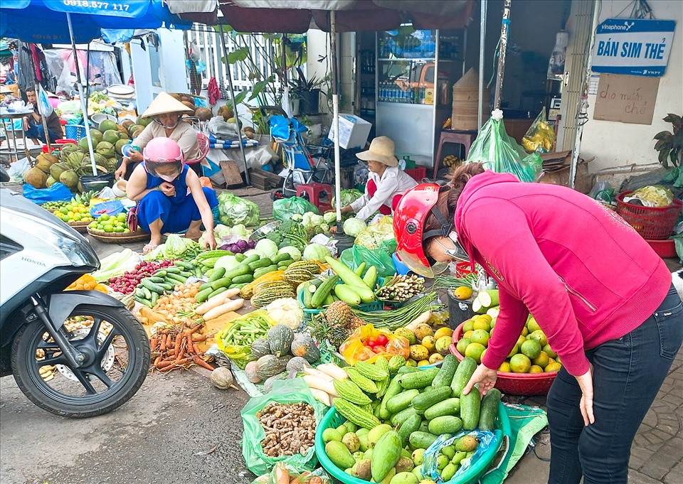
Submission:
<svg viewBox="0 0 683 484">
<path fill-rule="evenodd" d="M 18 38 L 30 43 L 67 43 L 70 40 L 76 63 L 78 87 L 85 137 L 88 139 L 92 174 L 97 175 L 95 151 L 92 149 L 88 110 L 85 107 L 83 82 L 80 79 L 76 43 L 88 43 L 102 35 L 102 29 L 159 28 L 164 25 L 187 25 L 171 14 L 162 0 L 129 0 L 126 4 L 88 1 L 2 0 L 0 4 L 0 36 Z"/>
</svg>

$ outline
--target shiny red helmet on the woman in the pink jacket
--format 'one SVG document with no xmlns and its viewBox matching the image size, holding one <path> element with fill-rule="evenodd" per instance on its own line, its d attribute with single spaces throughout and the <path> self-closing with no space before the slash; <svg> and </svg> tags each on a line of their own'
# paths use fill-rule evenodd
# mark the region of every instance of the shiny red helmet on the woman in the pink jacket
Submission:
<svg viewBox="0 0 683 484">
<path fill-rule="evenodd" d="M 437 236 L 449 237 L 454 230 L 453 221 L 448 220 L 436 207 L 441 190 L 450 190 L 450 187 L 437 183 L 420 183 L 403 194 L 393 214 L 398 258 L 411 271 L 425 277 L 433 277 L 448 268 L 447 262 L 428 259 L 423 249 L 425 240 Z M 424 232 L 425 220 L 430 213 L 441 222 L 441 228 Z M 459 249 L 457 244 L 456 249 Z M 463 252 L 462 249 L 459 252 Z"/>
</svg>

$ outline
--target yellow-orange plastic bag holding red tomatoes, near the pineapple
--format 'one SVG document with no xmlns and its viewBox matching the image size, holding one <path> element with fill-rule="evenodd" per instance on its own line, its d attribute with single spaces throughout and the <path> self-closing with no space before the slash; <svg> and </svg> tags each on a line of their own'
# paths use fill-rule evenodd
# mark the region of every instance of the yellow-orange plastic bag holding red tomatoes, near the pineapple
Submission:
<svg viewBox="0 0 683 484">
<path fill-rule="evenodd" d="M 383 347 L 386 351 L 380 349 L 378 353 L 375 353 L 364 343 L 367 343 L 370 338 L 377 338 L 379 335 L 386 336 L 387 343 Z M 381 346 L 376 346 L 375 349 L 377 348 L 381 348 Z M 357 361 L 373 363 L 377 358 L 386 357 L 388 359 L 393 355 L 401 355 L 408 360 L 411 356 L 411 343 L 403 336 L 396 336 L 391 331 L 366 324 L 356 328 L 354 333 L 342 343 L 342 346 L 339 347 L 339 353 L 349 365 L 355 365 Z"/>
</svg>

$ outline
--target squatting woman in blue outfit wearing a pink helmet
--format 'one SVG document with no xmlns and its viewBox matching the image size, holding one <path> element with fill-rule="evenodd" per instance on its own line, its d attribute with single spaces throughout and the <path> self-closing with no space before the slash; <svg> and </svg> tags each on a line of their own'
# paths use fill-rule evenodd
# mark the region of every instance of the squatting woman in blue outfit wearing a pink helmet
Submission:
<svg viewBox="0 0 683 484">
<path fill-rule="evenodd" d="M 197 240 L 202 223 L 207 232 L 204 246 L 215 249 L 211 209 L 218 205 L 216 192 L 201 186 L 197 174 L 183 162 L 179 144 L 170 138 L 154 138 L 143 156 L 144 162 L 126 185 L 128 198 L 138 202 L 140 227 L 152 235 L 143 252 L 156 249 L 164 232 L 186 232 L 185 237 Z"/>
</svg>

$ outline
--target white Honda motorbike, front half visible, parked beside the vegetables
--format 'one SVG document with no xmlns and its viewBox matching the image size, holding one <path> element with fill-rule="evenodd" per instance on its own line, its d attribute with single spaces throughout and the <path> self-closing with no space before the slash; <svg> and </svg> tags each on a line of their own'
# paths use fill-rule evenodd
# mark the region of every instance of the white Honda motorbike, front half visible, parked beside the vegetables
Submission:
<svg viewBox="0 0 683 484">
<path fill-rule="evenodd" d="M 147 334 L 121 301 L 65 291 L 99 267 L 78 232 L 0 188 L 0 376 L 53 414 L 110 412 L 149 370 Z"/>
</svg>

